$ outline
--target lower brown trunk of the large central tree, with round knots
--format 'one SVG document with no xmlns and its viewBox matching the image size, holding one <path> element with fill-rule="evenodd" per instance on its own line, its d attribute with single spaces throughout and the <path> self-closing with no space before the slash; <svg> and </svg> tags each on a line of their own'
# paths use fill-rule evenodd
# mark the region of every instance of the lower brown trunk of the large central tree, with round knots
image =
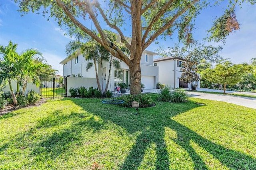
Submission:
<svg viewBox="0 0 256 170">
<path fill-rule="evenodd" d="M 132 63 L 130 65 L 130 94 L 136 96 L 141 93 L 140 82 L 141 82 L 141 70 L 140 63 Z"/>
</svg>

